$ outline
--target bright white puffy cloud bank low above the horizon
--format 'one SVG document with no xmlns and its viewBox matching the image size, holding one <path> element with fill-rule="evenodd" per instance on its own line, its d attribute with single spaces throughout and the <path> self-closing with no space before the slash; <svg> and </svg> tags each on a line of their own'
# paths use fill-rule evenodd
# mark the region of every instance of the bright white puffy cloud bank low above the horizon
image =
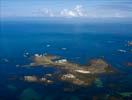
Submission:
<svg viewBox="0 0 132 100">
<path fill-rule="evenodd" d="M 67 18 L 87 16 L 86 11 L 82 5 L 76 5 L 72 9 L 65 8 L 58 12 L 48 8 L 43 8 L 43 9 L 39 9 L 36 14 L 45 17 L 47 16 L 47 17 L 67 17 Z"/>
</svg>

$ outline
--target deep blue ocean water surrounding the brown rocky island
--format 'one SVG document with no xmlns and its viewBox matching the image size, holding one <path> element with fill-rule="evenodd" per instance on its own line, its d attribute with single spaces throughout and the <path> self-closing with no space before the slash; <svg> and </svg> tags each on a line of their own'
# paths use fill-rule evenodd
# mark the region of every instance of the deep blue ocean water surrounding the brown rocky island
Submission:
<svg viewBox="0 0 132 100">
<path fill-rule="evenodd" d="M 65 23 L 62 21 L 1 21 L 0 26 L 0 100 L 131 100 L 132 95 L 131 23 Z M 50 46 L 49 46 L 50 45 Z M 66 48 L 63 50 L 62 48 Z M 125 52 L 120 52 L 125 50 Z M 28 83 L 25 75 L 53 73 L 53 68 L 25 68 L 34 54 L 53 54 L 86 64 L 103 58 L 117 70 L 115 75 L 101 75 L 88 87 L 57 82 L 51 85 Z M 20 67 L 17 67 L 20 65 Z M 100 84 L 99 84 L 100 83 Z M 122 96 L 120 93 L 129 93 Z"/>
</svg>

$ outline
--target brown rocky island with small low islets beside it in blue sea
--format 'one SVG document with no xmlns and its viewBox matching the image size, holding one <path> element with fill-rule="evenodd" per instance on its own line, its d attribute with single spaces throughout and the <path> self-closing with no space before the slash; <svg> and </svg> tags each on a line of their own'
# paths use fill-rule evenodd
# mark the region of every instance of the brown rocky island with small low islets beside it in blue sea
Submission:
<svg viewBox="0 0 132 100">
<path fill-rule="evenodd" d="M 60 70 L 60 74 L 56 75 L 59 81 L 81 86 L 88 86 L 93 83 L 98 74 L 114 72 L 112 67 L 103 59 L 93 59 L 86 65 L 80 65 L 60 56 L 35 54 L 32 57 L 32 61 L 32 63 L 25 66 L 34 68 L 37 66 L 44 68 L 54 67 Z M 24 76 L 24 80 L 28 82 L 53 82 L 52 80 L 47 80 L 45 77 L 38 78 L 36 76 Z"/>
</svg>

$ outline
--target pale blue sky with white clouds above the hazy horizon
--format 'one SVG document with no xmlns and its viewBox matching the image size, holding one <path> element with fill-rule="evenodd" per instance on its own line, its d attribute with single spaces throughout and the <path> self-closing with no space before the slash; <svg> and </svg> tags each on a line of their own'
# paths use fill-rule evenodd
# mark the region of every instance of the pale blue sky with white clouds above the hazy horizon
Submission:
<svg viewBox="0 0 132 100">
<path fill-rule="evenodd" d="M 1 17 L 132 18 L 132 0 L 0 0 Z"/>
</svg>

